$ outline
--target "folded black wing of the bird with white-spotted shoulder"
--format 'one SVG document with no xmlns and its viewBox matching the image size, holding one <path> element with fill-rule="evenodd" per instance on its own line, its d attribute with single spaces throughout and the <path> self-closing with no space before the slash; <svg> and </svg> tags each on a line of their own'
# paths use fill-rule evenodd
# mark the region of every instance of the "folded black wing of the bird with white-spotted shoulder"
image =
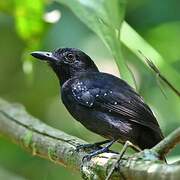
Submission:
<svg viewBox="0 0 180 180">
<path fill-rule="evenodd" d="M 79 84 L 73 88 L 73 94 L 82 106 L 123 117 L 161 133 L 156 118 L 143 99 L 126 83 L 123 86 L 117 90 L 112 86 L 87 88 Z"/>
</svg>

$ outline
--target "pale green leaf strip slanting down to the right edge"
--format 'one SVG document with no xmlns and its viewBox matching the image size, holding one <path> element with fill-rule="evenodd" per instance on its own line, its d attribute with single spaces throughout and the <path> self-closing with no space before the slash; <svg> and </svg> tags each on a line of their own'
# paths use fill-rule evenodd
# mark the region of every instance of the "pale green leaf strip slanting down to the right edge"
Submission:
<svg viewBox="0 0 180 180">
<path fill-rule="evenodd" d="M 139 59 L 146 63 L 145 58 L 138 52 L 139 50 L 149 58 L 176 88 L 180 89 L 180 73 L 177 72 L 166 61 L 159 52 L 146 42 L 130 25 L 123 22 L 121 29 L 121 42 L 129 48 Z"/>
</svg>

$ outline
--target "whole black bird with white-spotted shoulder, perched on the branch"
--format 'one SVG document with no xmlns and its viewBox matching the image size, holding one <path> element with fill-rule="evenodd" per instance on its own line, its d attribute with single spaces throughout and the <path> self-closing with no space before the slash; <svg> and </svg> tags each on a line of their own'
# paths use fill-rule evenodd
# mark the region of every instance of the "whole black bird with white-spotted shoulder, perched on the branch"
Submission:
<svg viewBox="0 0 180 180">
<path fill-rule="evenodd" d="M 61 86 L 61 98 L 70 114 L 106 141 L 96 143 L 107 151 L 115 142 L 130 141 L 140 149 L 152 148 L 163 139 L 151 109 L 122 79 L 99 72 L 92 59 L 79 49 L 36 51 L 32 56 L 47 61 Z"/>
</svg>

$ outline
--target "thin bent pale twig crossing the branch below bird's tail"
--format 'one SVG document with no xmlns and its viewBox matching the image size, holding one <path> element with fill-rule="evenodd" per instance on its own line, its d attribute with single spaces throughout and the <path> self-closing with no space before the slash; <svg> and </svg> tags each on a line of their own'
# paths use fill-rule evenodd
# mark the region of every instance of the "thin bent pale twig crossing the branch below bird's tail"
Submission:
<svg viewBox="0 0 180 180">
<path fill-rule="evenodd" d="M 128 147 L 132 147 L 134 150 L 136 150 L 136 151 L 138 151 L 138 152 L 141 151 L 141 149 L 140 149 L 139 147 L 135 146 L 135 145 L 134 145 L 133 143 L 131 143 L 130 141 L 126 141 L 125 144 L 124 144 L 124 146 L 123 146 L 123 148 L 122 148 L 122 150 L 121 150 L 121 152 L 120 152 L 120 154 L 119 154 L 119 157 L 118 157 L 117 161 L 112 165 L 112 168 L 110 169 L 110 171 L 109 171 L 109 173 L 108 173 L 108 175 L 107 175 L 107 177 L 106 177 L 105 180 L 109 180 L 109 179 L 110 179 L 112 173 L 113 173 L 114 170 L 117 168 L 119 162 L 121 161 L 121 159 L 122 159 L 122 157 L 123 157 L 123 155 L 124 155 L 124 153 L 126 152 L 126 150 L 127 150 Z"/>
</svg>

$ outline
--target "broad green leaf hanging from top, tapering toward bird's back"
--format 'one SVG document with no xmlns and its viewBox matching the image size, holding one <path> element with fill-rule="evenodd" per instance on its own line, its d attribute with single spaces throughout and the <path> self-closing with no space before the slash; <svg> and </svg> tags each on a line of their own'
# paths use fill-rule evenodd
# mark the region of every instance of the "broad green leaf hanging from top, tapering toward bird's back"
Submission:
<svg viewBox="0 0 180 180">
<path fill-rule="evenodd" d="M 133 77 L 124 61 L 119 41 L 125 13 L 125 0 L 56 0 L 68 6 L 111 51 L 123 79 L 131 85 Z"/>
</svg>

